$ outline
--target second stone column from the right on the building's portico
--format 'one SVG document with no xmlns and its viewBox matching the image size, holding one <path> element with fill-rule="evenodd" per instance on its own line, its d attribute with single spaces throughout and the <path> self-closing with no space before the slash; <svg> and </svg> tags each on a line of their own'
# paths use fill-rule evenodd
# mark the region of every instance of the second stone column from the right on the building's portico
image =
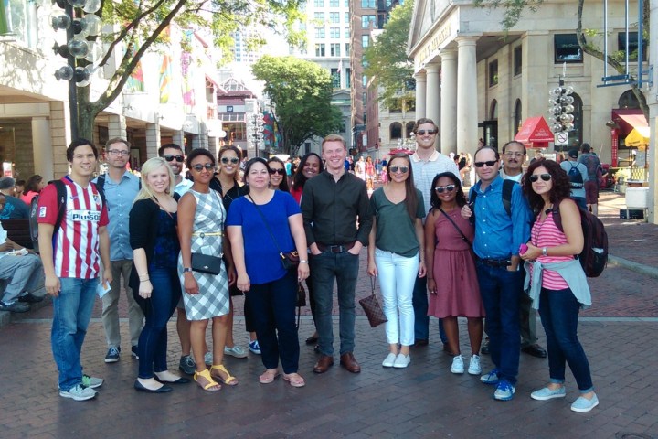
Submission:
<svg viewBox="0 0 658 439">
<path fill-rule="evenodd" d="M 441 153 L 457 152 L 457 52 L 441 52 Z"/>
</svg>

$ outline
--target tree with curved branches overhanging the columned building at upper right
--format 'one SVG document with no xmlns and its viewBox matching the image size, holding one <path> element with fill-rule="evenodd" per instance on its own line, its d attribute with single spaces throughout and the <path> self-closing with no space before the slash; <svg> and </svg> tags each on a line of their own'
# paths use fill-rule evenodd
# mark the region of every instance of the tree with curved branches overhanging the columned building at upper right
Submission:
<svg viewBox="0 0 658 439">
<path fill-rule="evenodd" d="M 537 7 L 544 3 L 544 0 L 473 0 L 473 4 L 476 6 L 480 7 L 491 7 L 491 8 L 497 8 L 497 7 L 503 7 L 504 8 L 504 18 L 501 24 L 503 25 L 504 33 L 507 34 L 507 32 L 518 23 L 518 21 L 521 19 L 523 16 L 523 11 L 525 7 L 527 7 L 531 12 L 535 12 Z M 649 6 L 650 2 L 645 1 L 643 4 L 644 8 L 642 10 L 642 27 L 643 27 L 643 34 L 642 37 L 644 38 L 645 41 L 648 41 L 649 38 Z M 616 52 L 612 54 L 608 54 L 608 58 L 605 57 L 605 54 L 603 51 L 598 48 L 596 45 L 588 43 L 585 35 L 588 34 L 589 36 L 596 35 L 598 32 L 588 30 L 588 29 L 583 29 L 582 28 L 582 15 L 583 15 L 583 10 L 585 7 L 585 0 L 578 0 L 578 27 L 576 28 L 576 36 L 578 38 L 578 45 L 582 49 L 584 53 L 587 53 L 589 56 L 594 57 L 596 59 L 600 59 L 603 62 L 607 62 L 610 67 L 612 67 L 614 70 L 617 70 L 620 74 L 625 74 L 626 73 L 626 66 L 623 62 L 622 59 L 623 57 L 623 52 Z M 637 80 L 636 78 L 633 78 L 631 75 L 631 81 Z M 640 103 L 640 108 L 642 109 L 642 112 L 644 113 L 644 117 L 646 120 L 649 120 L 649 105 L 646 102 L 646 97 L 644 96 L 644 93 L 642 90 L 640 90 L 637 86 L 637 83 L 631 83 L 631 90 L 633 91 L 633 94 L 637 98 L 638 102 Z"/>
</svg>

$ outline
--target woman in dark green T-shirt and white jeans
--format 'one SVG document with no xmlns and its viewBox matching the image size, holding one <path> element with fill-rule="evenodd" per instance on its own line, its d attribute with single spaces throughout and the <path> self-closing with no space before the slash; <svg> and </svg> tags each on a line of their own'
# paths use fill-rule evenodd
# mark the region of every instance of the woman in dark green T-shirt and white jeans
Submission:
<svg viewBox="0 0 658 439">
<path fill-rule="evenodd" d="M 409 347 L 414 343 L 413 288 L 416 277 L 426 273 L 422 229 L 425 209 L 422 193 L 413 184 L 409 155 L 393 155 L 387 174 L 387 185 L 370 198 L 373 227 L 367 273 L 379 279 L 388 320 L 389 352 L 382 366 L 406 368 L 411 362 Z"/>
</svg>

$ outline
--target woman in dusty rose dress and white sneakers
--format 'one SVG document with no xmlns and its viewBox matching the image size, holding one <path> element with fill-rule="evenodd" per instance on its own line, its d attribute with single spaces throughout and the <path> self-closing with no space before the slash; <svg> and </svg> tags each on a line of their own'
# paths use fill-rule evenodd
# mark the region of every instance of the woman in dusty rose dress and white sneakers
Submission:
<svg viewBox="0 0 658 439">
<path fill-rule="evenodd" d="M 468 373 L 480 375 L 480 345 L 483 337 L 484 307 L 475 273 L 471 244 L 473 226 L 462 218 L 466 204 L 460 179 L 443 172 L 432 181 L 432 209 L 425 221 L 425 253 L 430 267 L 430 316 L 443 319 L 443 328 L 451 349 L 451 372 L 462 374 L 464 360 L 459 344 L 457 317 L 466 317 L 471 359 Z"/>
</svg>

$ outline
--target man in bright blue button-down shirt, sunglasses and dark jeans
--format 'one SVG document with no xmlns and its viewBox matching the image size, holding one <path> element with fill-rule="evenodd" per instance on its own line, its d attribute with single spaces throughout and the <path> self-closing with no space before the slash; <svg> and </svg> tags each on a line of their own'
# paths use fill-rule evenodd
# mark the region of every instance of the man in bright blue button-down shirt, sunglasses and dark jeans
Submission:
<svg viewBox="0 0 658 439">
<path fill-rule="evenodd" d="M 532 216 L 519 185 L 512 190 L 510 213 L 504 208 L 504 180 L 498 175 L 496 150 L 484 146 L 475 153 L 473 163 L 480 181 L 471 189 L 469 199 L 476 195 L 472 209 L 464 206 L 462 216 L 475 216 L 473 251 L 495 365 L 480 380 L 496 384 L 493 397 L 506 401 L 514 397 L 519 364 L 519 299 L 524 280 L 519 247 L 530 237 Z"/>
</svg>

